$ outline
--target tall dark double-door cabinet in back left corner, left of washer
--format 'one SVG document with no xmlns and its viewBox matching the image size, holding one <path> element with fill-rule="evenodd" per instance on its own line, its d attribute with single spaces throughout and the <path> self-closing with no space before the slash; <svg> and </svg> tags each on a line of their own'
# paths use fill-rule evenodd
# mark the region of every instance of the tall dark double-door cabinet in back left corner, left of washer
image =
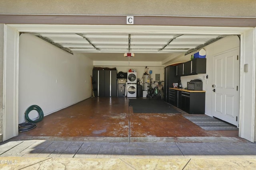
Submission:
<svg viewBox="0 0 256 170">
<path fill-rule="evenodd" d="M 93 70 L 92 81 L 94 95 L 98 97 L 117 96 L 117 71 L 116 70 Z"/>
</svg>

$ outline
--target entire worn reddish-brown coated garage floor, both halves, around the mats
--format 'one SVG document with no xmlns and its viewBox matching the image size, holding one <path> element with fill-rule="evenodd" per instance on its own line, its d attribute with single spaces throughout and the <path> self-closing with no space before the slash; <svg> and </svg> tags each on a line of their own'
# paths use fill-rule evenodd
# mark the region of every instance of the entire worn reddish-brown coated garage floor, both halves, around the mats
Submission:
<svg viewBox="0 0 256 170">
<path fill-rule="evenodd" d="M 184 113 L 182 113 L 184 114 Z M 25 136 L 238 137 L 238 131 L 205 131 L 181 113 L 133 113 L 127 98 L 89 98 L 44 117 Z M 129 129 L 130 119 L 130 129 Z"/>
</svg>

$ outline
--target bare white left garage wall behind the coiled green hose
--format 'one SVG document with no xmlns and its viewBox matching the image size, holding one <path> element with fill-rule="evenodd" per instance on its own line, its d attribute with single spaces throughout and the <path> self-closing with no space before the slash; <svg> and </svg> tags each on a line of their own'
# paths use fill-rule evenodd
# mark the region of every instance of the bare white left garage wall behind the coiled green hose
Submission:
<svg viewBox="0 0 256 170">
<path fill-rule="evenodd" d="M 20 35 L 19 53 L 19 123 L 31 105 L 48 115 L 91 97 L 93 62 L 83 54 L 71 55 L 30 34 Z"/>
</svg>

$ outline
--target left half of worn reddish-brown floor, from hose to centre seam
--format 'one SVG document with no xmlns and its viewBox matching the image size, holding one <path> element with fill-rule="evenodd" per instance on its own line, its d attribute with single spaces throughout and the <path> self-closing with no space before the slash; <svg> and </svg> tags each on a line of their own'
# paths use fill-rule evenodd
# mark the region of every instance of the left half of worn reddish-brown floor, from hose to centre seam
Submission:
<svg viewBox="0 0 256 170">
<path fill-rule="evenodd" d="M 44 117 L 22 135 L 128 137 L 128 118 L 127 100 L 90 98 Z"/>
</svg>

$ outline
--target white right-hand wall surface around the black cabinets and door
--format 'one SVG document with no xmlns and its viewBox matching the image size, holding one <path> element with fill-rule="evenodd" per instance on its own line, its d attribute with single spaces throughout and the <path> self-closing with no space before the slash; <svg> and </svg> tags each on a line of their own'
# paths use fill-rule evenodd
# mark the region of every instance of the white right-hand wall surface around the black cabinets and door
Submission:
<svg viewBox="0 0 256 170">
<path fill-rule="evenodd" d="M 203 90 L 206 91 L 206 101 L 205 101 L 205 113 L 207 115 L 212 115 L 212 62 L 213 56 L 222 53 L 224 51 L 240 47 L 240 40 L 236 35 L 230 35 L 223 39 L 220 39 L 206 47 L 206 74 L 197 74 L 191 76 L 181 76 L 181 83 L 183 88 L 187 86 L 187 82 L 194 79 L 201 79 L 203 82 Z M 196 52 L 194 52 L 196 53 Z M 192 53 L 192 54 L 194 54 Z M 180 57 L 173 63 L 180 61 L 189 61 L 192 54 Z M 203 80 L 204 76 L 208 75 L 208 79 Z"/>
</svg>

